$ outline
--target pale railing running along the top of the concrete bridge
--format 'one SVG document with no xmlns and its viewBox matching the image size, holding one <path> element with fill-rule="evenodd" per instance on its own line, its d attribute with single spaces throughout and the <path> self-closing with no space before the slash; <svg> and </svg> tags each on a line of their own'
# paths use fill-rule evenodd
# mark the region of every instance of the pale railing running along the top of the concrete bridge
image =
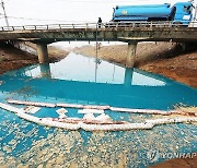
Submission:
<svg viewBox="0 0 197 168">
<path fill-rule="evenodd" d="M 3 26 L 0 32 L 13 31 L 47 31 L 47 29 L 76 29 L 76 28 L 113 28 L 113 27 L 173 27 L 183 26 L 173 22 L 108 22 L 108 23 L 82 23 L 82 24 L 48 24 L 48 25 L 24 25 L 24 26 Z M 190 22 L 189 27 L 197 27 L 197 22 Z"/>
</svg>

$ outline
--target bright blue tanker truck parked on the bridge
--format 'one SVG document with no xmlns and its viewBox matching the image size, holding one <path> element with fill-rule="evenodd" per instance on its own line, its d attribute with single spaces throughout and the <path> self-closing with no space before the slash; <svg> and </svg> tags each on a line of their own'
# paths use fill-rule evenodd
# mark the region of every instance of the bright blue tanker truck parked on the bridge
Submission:
<svg viewBox="0 0 197 168">
<path fill-rule="evenodd" d="M 173 24 L 188 25 L 192 20 L 193 3 L 176 2 L 174 5 L 170 3 L 116 5 L 111 23 L 169 21 Z"/>
</svg>

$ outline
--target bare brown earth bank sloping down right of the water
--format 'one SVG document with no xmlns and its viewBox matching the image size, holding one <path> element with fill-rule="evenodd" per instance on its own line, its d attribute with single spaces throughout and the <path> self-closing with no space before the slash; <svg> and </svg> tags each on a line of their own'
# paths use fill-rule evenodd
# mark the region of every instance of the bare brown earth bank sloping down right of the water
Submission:
<svg viewBox="0 0 197 168">
<path fill-rule="evenodd" d="M 95 46 L 74 48 L 74 52 L 85 56 L 96 55 Z M 101 46 L 97 57 L 125 64 L 127 45 Z M 141 43 L 137 46 L 136 68 L 162 74 L 172 80 L 197 88 L 197 50 L 184 51 L 182 46 L 171 43 Z"/>
</svg>

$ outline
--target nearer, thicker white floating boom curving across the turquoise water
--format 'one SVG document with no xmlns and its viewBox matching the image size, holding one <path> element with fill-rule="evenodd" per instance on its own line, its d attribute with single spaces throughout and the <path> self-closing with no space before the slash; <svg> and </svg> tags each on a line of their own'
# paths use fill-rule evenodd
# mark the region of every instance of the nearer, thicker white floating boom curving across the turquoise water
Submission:
<svg viewBox="0 0 197 168">
<path fill-rule="evenodd" d="M 40 104 L 38 104 L 40 105 Z M 85 131 L 126 131 L 126 130 L 147 130 L 152 129 L 154 125 L 164 124 L 164 123 L 179 123 L 179 122 L 197 122 L 197 117 L 165 117 L 160 119 L 144 120 L 140 123 L 130 123 L 126 121 L 121 122 L 111 122 L 111 123 L 99 123 L 95 121 L 89 121 L 80 118 L 66 118 L 60 120 L 60 118 L 38 118 L 32 115 L 25 113 L 23 109 L 12 107 L 7 104 L 0 103 L 0 108 L 5 109 L 11 112 L 15 112 L 22 119 L 25 119 L 31 122 L 35 122 L 40 125 L 61 128 L 66 130 L 79 130 L 83 129 Z"/>
</svg>

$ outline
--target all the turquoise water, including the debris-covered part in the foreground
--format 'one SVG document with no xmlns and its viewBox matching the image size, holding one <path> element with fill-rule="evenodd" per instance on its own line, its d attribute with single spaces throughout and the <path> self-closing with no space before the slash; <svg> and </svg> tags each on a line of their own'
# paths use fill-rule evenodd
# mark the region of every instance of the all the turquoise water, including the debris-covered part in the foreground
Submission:
<svg viewBox="0 0 197 168">
<path fill-rule="evenodd" d="M 60 62 L 32 65 L 0 76 L 0 101 L 8 98 L 109 105 L 114 107 L 169 110 L 184 104 L 197 106 L 197 91 L 166 77 L 138 69 L 125 69 L 70 53 Z M 37 117 L 58 117 L 57 108 L 42 108 Z M 68 108 L 69 117 L 83 117 Z M 114 120 L 141 122 L 152 115 L 105 111 Z M 157 116 L 159 117 L 159 116 Z M 0 109 L 0 166 L 37 167 L 146 167 L 169 157 L 150 159 L 157 151 L 197 151 L 195 123 L 165 124 L 152 130 L 85 132 L 37 125 Z"/>
</svg>

